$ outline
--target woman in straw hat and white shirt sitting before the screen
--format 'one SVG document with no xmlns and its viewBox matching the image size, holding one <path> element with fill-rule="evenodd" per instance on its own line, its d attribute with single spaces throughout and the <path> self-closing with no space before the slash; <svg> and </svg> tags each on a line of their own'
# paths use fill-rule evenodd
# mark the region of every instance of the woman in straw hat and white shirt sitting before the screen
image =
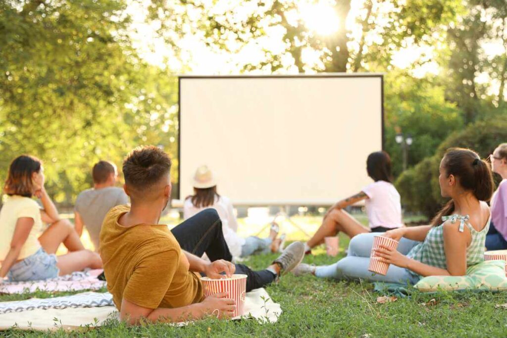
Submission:
<svg viewBox="0 0 507 338">
<path fill-rule="evenodd" d="M 216 193 L 216 182 L 207 166 L 197 168 L 194 176 L 194 195 L 186 198 L 183 205 L 183 217 L 188 219 L 200 211 L 213 208 L 220 216 L 224 238 L 231 254 L 235 257 L 246 257 L 252 254 L 278 252 L 281 240 L 277 239 L 279 227 L 276 223 L 271 225 L 270 235 L 267 238 L 250 236 L 240 237 L 238 221 L 234 215 L 231 201 Z"/>
</svg>

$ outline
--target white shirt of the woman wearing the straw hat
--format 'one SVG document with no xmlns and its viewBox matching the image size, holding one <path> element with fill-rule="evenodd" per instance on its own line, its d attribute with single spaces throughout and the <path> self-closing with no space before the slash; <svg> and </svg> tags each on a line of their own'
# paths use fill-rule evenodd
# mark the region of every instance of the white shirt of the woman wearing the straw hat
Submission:
<svg viewBox="0 0 507 338">
<path fill-rule="evenodd" d="M 245 244 L 245 239 L 236 234 L 236 231 L 238 230 L 238 221 L 234 215 L 232 203 L 227 197 L 215 197 L 213 205 L 205 208 L 197 208 L 192 204 L 192 199 L 188 198 L 183 204 L 183 217 L 188 219 L 198 212 L 208 208 L 213 208 L 219 213 L 220 219 L 222 220 L 224 238 L 227 246 L 229 247 L 229 251 L 231 251 L 233 256 L 239 257 L 241 255 L 241 247 Z"/>
</svg>

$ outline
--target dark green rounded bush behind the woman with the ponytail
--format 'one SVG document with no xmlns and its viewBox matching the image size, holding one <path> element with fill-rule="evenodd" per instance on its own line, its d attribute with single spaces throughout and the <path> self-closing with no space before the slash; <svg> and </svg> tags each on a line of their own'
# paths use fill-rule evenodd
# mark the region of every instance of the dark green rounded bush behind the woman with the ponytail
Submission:
<svg viewBox="0 0 507 338">
<path fill-rule="evenodd" d="M 445 200 L 438 182 L 440 161 L 451 147 L 470 148 L 487 158 L 499 143 L 507 139 L 506 121 L 479 121 L 452 133 L 440 144 L 436 153 L 406 170 L 395 182 L 407 210 L 434 216 Z M 495 174 L 496 181 L 499 177 Z"/>
</svg>

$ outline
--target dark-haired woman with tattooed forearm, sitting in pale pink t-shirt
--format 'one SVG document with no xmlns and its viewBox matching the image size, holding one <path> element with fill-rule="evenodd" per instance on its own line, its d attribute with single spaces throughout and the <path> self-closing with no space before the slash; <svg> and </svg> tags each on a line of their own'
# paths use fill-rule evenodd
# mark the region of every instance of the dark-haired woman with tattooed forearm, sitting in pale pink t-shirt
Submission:
<svg viewBox="0 0 507 338">
<path fill-rule="evenodd" d="M 400 194 L 391 183 L 391 159 L 386 152 L 375 152 L 366 160 L 366 170 L 374 182 L 365 186 L 358 194 L 335 203 L 324 215 L 322 225 L 315 235 L 305 243 L 305 251 L 311 253 L 324 238 L 336 236 L 339 232 L 350 238 L 368 232 L 386 232 L 403 227 Z M 345 207 L 366 200 L 369 227 L 363 226 Z"/>
</svg>

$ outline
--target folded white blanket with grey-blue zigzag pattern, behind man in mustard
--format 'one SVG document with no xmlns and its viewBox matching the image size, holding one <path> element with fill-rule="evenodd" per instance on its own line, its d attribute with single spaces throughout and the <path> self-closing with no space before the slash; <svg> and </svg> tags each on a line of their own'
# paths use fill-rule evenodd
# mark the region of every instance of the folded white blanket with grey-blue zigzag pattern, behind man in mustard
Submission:
<svg viewBox="0 0 507 338">
<path fill-rule="evenodd" d="M 114 306 L 111 293 L 82 292 L 71 296 L 1 302 L 0 314 L 35 309 L 99 308 L 103 306 Z"/>
</svg>

